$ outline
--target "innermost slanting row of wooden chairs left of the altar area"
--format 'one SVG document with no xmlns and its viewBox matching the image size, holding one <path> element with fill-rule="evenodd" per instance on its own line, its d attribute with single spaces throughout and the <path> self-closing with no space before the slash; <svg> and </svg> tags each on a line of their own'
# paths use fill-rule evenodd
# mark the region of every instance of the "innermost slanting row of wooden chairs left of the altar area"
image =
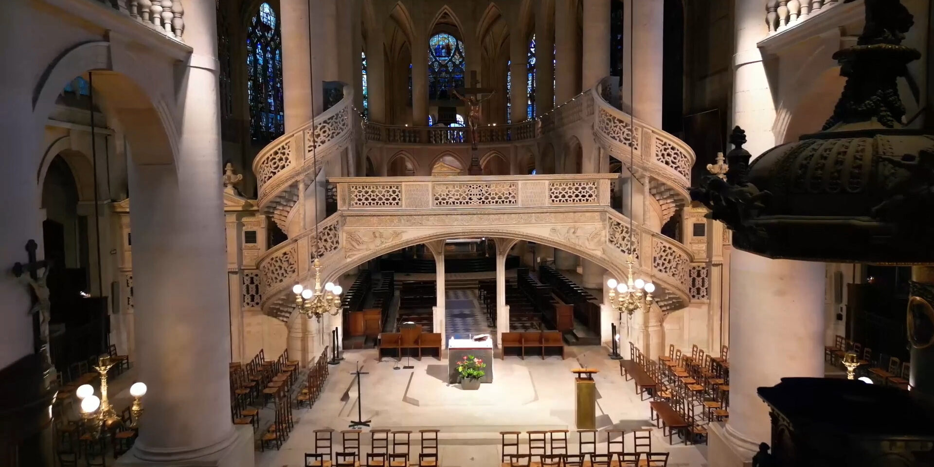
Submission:
<svg viewBox="0 0 934 467">
<path fill-rule="evenodd" d="M 288 351 L 287 351 L 288 352 Z M 289 354 L 284 352 L 280 360 L 288 362 Z M 275 366 L 271 365 L 271 366 Z M 290 375 L 294 375 L 292 372 Z M 310 365 L 307 375 L 307 382 L 299 393 L 295 396 L 295 406 L 304 400 L 308 407 L 318 398 L 324 387 L 324 381 L 327 379 L 330 371 L 328 368 L 328 348 L 324 347 L 316 361 Z M 280 374 L 281 375 L 281 374 Z M 283 380 L 286 381 L 286 380 Z M 260 437 L 260 450 L 266 450 L 267 446 L 276 446 L 276 450 L 282 448 L 282 444 L 289 439 L 290 432 L 295 428 L 295 420 L 292 416 L 292 403 L 290 400 L 291 390 L 286 386 L 278 387 L 273 396 L 275 410 L 275 419 L 273 423 L 262 433 Z M 265 403 L 264 403 L 265 405 Z"/>
</svg>

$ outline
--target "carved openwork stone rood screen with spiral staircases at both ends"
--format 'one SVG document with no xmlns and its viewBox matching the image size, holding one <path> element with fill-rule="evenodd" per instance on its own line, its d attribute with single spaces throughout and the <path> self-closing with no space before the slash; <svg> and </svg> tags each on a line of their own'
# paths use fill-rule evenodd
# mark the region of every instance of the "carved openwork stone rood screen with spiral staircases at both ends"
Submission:
<svg viewBox="0 0 934 467">
<path fill-rule="evenodd" d="M 533 122 L 487 127 L 480 146 L 534 144 L 549 132 L 587 125 L 598 144 L 637 177 L 662 209 L 662 222 L 689 203 L 694 154 L 687 145 L 611 104 L 609 79 Z M 253 170 L 258 205 L 284 232 L 299 199 L 320 167 L 339 157 L 355 137 L 394 144 L 464 144 L 460 130 L 396 127 L 355 122 L 353 94 L 308 124 L 277 138 L 257 155 Z M 314 126 L 314 131 L 312 127 Z M 362 134 L 358 134 L 362 129 Z M 455 133 L 451 133 L 451 132 Z M 630 142 L 632 154 L 630 156 Z M 313 151 L 312 149 L 316 149 Z M 659 307 L 672 311 L 692 298 L 693 254 L 679 242 L 610 207 L 616 174 L 476 177 L 329 177 L 337 211 L 267 250 L 258 264 L 262 310 L 289 320 L 295 283 L 314 280 L 318 254 L 325 280 L 398 248 L 452 236 L 500 236 L 542 243 L 596 262 L 624 276 L 631 253 L 640 276 L 657 285 Z M 316 236 L 317 232 L 317 236 Z"/>
</svg>

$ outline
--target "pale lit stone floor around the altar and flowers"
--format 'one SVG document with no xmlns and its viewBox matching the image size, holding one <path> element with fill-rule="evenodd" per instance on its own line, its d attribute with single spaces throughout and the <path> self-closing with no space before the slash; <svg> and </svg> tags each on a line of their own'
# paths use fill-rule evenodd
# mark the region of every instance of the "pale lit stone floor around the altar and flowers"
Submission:
<svg viewBox="0 0 934 467">
<path fill-rule="evenodd" d="M 597 423 L 600 428 L 616 427 L 628 432 L 653 428 L 654 451 L 671 452 L 669 464 L 705 466 L 707 446 L 685 446 L 674 437 L 674 446 L 649 421 L 648 401 L 640 401 L 632 383 L 624 383 L 616 361 L 610 361 L 600 347 L 569 347 L 567 358 L 549 357 L 544 361 L 516 357 L 493 361 L 494 382 L 477 391 L 463 391 L 444 380 L 446 361 L 425 358 L 412 361 L 414 370 L 393 370 L 392 361 L 375 361 L 374 350 L 352 350 L 346 360 L 332 367 L 325 390 L 311 409 L 295 412 L 295 429 L 281 450 L 256 453 L 258 467 L 304 465 L 304 452 L 312 452 L 313 431 L 319 428 L 346 430 L 357 418 L 357 387 L 350 372 L 359 361 L 362 376 L 362 417 L 372 419 L 372 428 L 411 430 L 410 453 L 417 457 L 417 431 L 440 430 L 440 460 L 444 466 L 500 465 L 501 431 L 571 430 L 569 452 L 577 452 L 574 435 L 573 375 L 571 370 L 595 367 Z M 363 452 L 369 452 L 369 436 L 363 433 Z M 632 435 L 625 436 L 627 449 Z M 598 452 L 605 452 L 605 435 Z M 335 446 L 338 441 L 335 439 Z M 335 449 L 335 450 L 340 450 Z"/>
</svg>

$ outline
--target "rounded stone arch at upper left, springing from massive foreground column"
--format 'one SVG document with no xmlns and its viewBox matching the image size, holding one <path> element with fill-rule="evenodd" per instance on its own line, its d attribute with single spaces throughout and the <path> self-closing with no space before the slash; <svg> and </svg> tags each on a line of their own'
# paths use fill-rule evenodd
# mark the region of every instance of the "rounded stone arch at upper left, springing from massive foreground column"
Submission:
<svg viewBox="0 0 934 467">
<path fill-rule="evenodd" d="M 123 126 L 134 162 L 174 163 L 177 132 L 167 99 L 159 94 L 160 86 L 152 82 L 148 67 L 128 50 L 114 50 L 109 42 L 80 44 L 50 64 L 33 94 L 35 134 L 42 134 L 65 84 L 89 71 L 102 109 Z"/>
</svg>

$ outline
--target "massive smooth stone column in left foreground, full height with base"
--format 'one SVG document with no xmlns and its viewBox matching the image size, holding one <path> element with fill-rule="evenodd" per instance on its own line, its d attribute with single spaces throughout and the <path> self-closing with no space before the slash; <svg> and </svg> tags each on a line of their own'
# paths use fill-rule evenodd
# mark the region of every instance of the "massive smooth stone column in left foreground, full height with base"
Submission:
<svg viewBox="0 0 934 467">
<path fill-rule="evenodd" d="M 193 53 L 179 69 L 176 160 L 130 167 L 136 368 L 149 392 L 118 465 L 252 465 L 252 430 L 231 421 L 215 8 L 185 4 Z"/>
</svg>

